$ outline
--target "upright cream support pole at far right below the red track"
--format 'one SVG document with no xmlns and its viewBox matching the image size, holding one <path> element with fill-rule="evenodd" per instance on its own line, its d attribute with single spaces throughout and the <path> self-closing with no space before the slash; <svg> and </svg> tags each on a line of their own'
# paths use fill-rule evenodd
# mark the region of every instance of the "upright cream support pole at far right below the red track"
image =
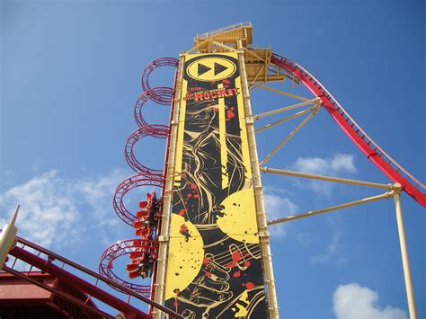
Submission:
<svg viewBox="0 0 426 319">
<path fill-rule="evenodd" d="M 397 185 L 395 184 L 395 186 Z M 399 186 L 401 187 L 401 185 Z M 395 199 L 395 210 L 396 210 L 396 222 L 398 224 L 399 244 L 401 246 L 401 258 L 403 260 L 404 281 L 405 281 L 405 290 L 406 290 L 407 301 L 408 301 L 408 311 L 410 313 L 410 319 L 417 319 L 417 312 L 416 312 L 415 302 L 414 302 L 412 274 L 410 271 L 410 261 L 408 258 L 407 244 L 405 242 L 403 209 L 401 208 L 400 192 L 395 192 L 394 199 Z"/>
</svg>

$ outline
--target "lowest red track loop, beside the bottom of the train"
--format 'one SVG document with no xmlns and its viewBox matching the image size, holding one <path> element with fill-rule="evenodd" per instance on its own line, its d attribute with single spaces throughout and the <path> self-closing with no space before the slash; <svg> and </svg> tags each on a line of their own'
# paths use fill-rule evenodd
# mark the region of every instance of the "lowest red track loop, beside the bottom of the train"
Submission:
<svg viewBox="0 0 426 319">
<path fill-rule="evenodd" d="M 113 271 L 112 262 L 121 256 L 133 253 L 136 248 L 133 246 L 133 242 L 141 241 L 140 239 L 127 239 L 116 244 L 111 244 L 101 256 L 101 262 L 99 263 L 99 273 L 108 277 L 111 280 L 119 283 L 120 285 L 132 289 L 145 297 L 151 297 L 151 285 L 137 285 L 127 280 L 121 279 Z M 111 288 L 114 288 L 111 286 Z M 119 290 L 117 288 L 114 288 Z M 120 290 L 119 290 L 120 291 Z M 121 292 L 121 291 L 120 291 Z"/>
</svg>

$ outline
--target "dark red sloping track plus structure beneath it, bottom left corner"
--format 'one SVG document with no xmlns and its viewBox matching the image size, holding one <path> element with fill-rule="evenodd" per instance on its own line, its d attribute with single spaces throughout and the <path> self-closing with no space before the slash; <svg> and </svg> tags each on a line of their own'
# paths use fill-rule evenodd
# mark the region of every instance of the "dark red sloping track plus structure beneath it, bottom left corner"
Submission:
<svg viewBox="0 0 426 319">
<path fill-rule="evenodd" d="M 11 296 L 10 291 L 8 291 L 7 295 L 9 299 L 13 297 L 13 301 L 8 300 L 6 303 L 2 302 L 0 304 L 0 313 L 3 311 L 5 314 L 2 315 L 2 318 L 16 318 L 19 317 L 18 315 L 22 314 L 22 310 L 19 307 L 13 306 L 13 303 L 14 305 L 21 305 L 21 307 L 25 305 L 25 309 L 31 309 L 28 306 L 31 305 L 31 301 L 33 302 L 34 300 L 36 300 L 34 308 L 36 308 L 36 311 L 39 311 L 40 315 L 47 315 L 56 311 L 56 317 L 64 318 L 113 318 L 117 315 L 110 315 L 100 310 L 93 300 L 98 300 L 105 305 L 111 306 L 128 318 L 151 317 L 136 306 L 132 306 L 129 302 L 130 297 L 150 306 L 159 306 L 151 299 L 141 296 L 133 289 L 122 286 L 114 280 L 103 277 L 93 270 L 89 270 L 74 261 L 70 261 L 57 253 L 53 253 L 23 238 L 17 237 L 17 245 L 10 251 L 9 255 L 14 257 L 15 260 L 11 267 L 4 266 L 3 270 L 12 274 L 14 278 L 19 279 L 21 284 L 23 282 L 31 284 L 32 293 L 29 290 L 23 290 L 21 288 L 15 290 L 16 296 Z M 23 261 L 31 265 L 30 270 L 15 270 L 14 268 L 17 261 Z M 31 271 L 33 268 L 41 272 Z M 66 268 L 68 270 L 66 270 Z M 93 280 L 93 283 L 89 282 L 87 279 L 83 279 L 83 277 Z M 9 280 L 9 282 L 13 284 L 13 282 L 10 281 L 10 277 L 5 275 L 3 275 L 1 280 L 3 280 L 3 283 L 5 280 Z M 14 283 L 16 283 L 16 280 Z M 111 293 L 101 287 L 101 284 L 110 285 L 112 288 L 126 294 L 127 300 L 125 301 L 111 295 Z M 41 289 L 37 290 L 33 288 L 33 286 Z M 42 291 L 48 291 L 49 293 L 43 294 Z M 2 299 L 4 300 L 4 298 Z M 164 306 L 159 307 L 162 308 L 164 312 L 180 317 L 179 315 L 173 314 L 173 312 Z M 51 309 L 49 310 L 47 308 Z"/>
</svg>

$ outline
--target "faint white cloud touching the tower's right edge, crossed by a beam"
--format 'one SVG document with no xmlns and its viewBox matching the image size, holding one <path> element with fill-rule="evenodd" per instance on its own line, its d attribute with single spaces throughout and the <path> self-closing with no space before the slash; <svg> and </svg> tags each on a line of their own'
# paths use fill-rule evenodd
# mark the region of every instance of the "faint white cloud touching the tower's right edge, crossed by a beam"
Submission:
<svg viewBox="0 0 426 319">
<path fill-rule="evenodd" d="M 266 217 L 268 220 L 297 213 L 297 205 L 290 199 L 283 197 L 280 191 L 272 191 L 270 188 L 265 188 L 263 199 L 265 202 Z M 284 224 L 272 225 L 269 227 L 271 236 L 284 237 L 286 229 Z"/>
</svg>

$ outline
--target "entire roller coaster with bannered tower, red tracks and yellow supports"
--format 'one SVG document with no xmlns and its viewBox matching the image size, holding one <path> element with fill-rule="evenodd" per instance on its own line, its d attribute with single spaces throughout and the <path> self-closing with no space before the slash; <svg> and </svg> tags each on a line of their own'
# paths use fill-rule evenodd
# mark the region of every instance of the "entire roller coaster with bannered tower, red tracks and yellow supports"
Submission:
<svg viewBox="0 0 426 319">
<path fill-rule="evenodd" d="M 252 24 L 241 22 L 197 34 L 194 47 L 183 52 L 179 59 L 158 58 L 146 66 L 141 81 L 143 93 L 134 105 L 137 128 L 124 147 L 126 162 L 135 174 L 120 182 L 112 201 L 115 213 L 133 227 L 136 237 L 111 244 L 102 253 L 100 275 L 22 238 L 18 238 L 22 247 L 15 246 L 10 255 L 81 289 L 88 299 L 110 300 L 122 314 L 156 318 L 163 315 L 278 318 L 268 226 L 377 199 L 394 198 L 400 223 L 407 299 L 410 315 L 415 318 L 399 196 L 405 192 L 426 207 L 425 185 L 378 146 L 303 66 L 271 49 L 253 49 L 251 43 Z M 176 69 L 173 88 L 151 87 L 150 76 L 164 66 Z M 281 86 L 277 88 L 268 83 Z M 291 85 L 286 86 L 287 83 Z M 298 88 L 297 93 L 296 90 L 291 92 L 294 87 Z M 300 95 L 300 87 L 305 87 L 310 96 Z M 295 103 L 253 114 L 250 95 L 254 89 L 285 96 Z M 200 99 L 194 98 L 196 94 Z M 144 119 L 146 104 L 152 102 L 171 106 L 168 126 L 148 123 Z M 389 178 L 389 184 L 265 166 L 321 109 L 325 109 L 362 154 Z M 284 112 L 291 115 L 254 128 L 257 120 Z M 303 116 L 305 119 L 259 161 L 255 134 Z M 135 145 L 147 137 L 166 138 L 164 169 L 147 167 L 135 155 Z M 267 221 L 261 173 L 358 184 L 386 192 L 332 208 Z M 125 196 L 140 187 L 149 192 L 146 200 L 139 201 L 139 210 L 131 211 L 124 204 Z M 232 223 L 236 225 L 234 228 Z M 29 253 L 25 247 L 31 247 L 46 258 Z M 188 256 L 191 261 L 188 263 L 178 255 Z M 120 269 L 113 267 L 114 261 L 123 256 L 129 258 L 127 279 Z M 52 261 L 83 270 L 96 280 L 146 302 L 150 305 L 149 314 L 83 279 L 72 277 Z M 194 270 L 190 269 L 191 265 L 195 265 Z M 13 267 L 4 266 L 4 270 L 31 280 Z M 55 294 L 87 308 L 85 311 L 109 316 L 82 300 L 65 296 L 60 289 Z"/>
</svg>

